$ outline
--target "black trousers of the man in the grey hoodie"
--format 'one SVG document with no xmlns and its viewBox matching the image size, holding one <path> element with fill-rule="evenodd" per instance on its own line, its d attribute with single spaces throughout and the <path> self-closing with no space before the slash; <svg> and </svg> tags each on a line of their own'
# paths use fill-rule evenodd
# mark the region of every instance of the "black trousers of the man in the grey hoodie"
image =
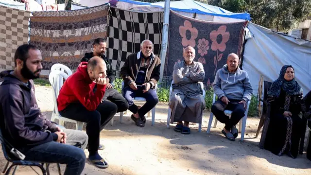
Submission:
<svg viewBox="0 0 311 175">
<path fill-rule="evenodd" d="M 245 108 L 243 104 L 239 104 L 241 100 L 230 100 L 228 105 L 226 105 L 221 100 L 217 100 L 211 107 L 212 113 L 215 115 L 216 119 L 225 123 L 225 129 L 230 130 L 232 126 L 238 124 L 240 120 L 244 117 Z M 231 118 L 225 115 L 225 110 L 231 110 Z"/>
</svg>

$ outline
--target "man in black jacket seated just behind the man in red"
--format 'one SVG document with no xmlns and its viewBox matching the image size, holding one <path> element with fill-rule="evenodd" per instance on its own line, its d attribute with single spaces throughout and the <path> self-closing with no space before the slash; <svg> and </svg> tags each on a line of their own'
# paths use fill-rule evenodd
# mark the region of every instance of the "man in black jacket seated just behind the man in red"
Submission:
<svg viewBox="0 0 311 175">
<path fill-rule="evenodd" d="M 124 97 L 121 95 L 121 93 L 118 92 L 118 90 L 113 88 L 113 81 L 115 80 L 115 72 L 111 67 L 111 61 L 104 55 L 106 52 L 106 42 L 102 38 L 97 38 L 94 40 L 93 43 L 93 51 L 91 53 L 86 53 L 84 57 L 82 58 L 81 62 L 88 62 L 90 58 L 93 56 L 99 56 L 104 59 L 106 66 L 107 66 L 107 77 L 106 77 L 106 91 L 103 97 L 104 104 L 106 106 L 109 106 L 109 108 L 117 107 L 117 112 L 123 112 L 128 109 L 127 101 L 124 99 Z M 93 92 L 96 91 L 97 86 L 93 89 Z M 113 105 L 113 104 L 115 105 Z M 102 146 L 102 145 L 101 145 Z M 100 146 L 100 147 L 101 147 Z"/>
</svg>

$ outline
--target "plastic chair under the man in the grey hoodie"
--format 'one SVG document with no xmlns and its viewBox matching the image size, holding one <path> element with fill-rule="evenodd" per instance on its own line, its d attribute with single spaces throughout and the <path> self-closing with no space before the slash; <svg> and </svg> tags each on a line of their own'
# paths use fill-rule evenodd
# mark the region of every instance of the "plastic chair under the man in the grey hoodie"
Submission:
<svg viewBox="0 0 311 175">
<path fill-rule="evenodd" d="M 213 95 L 213 104 L 215 103 L 215 100 L 216 100 L 216 94 L 214 93 L 214 95 Z M 241 141 L 244 141 L 246 119 L 247 119 L 247 113 L 248 113 L 248 108 L 249 108 L 250 102 L 251 102 L 251 100 L 249 100 L 247 102 L 247 107 L 246 107 L 246 110 L 245 110 L 245 113 L 244 113 L 244 117 L 240 120 L 240 123 L 239 123 L 239 132 L 241 132 Z M 231 116 L 231 113 L 232 113 L 231 110 L 225 110 L 224 112 L 225 112 L 225 114 Z M 209 134 L 210 127 L 211 127 L 212 122 L 213 122 L 213 117 L 214 117 L 214 114 L 211 112 L 210 116 L 209 116 L 209 122 L 208 122 L 208 127 L 207 127 L 207 134 Z M 213 128 L 216 128 L 217 122 L 218 122 L 218 120 L 215 118 L 215 122 L 214 122 Z"/>
</svg>

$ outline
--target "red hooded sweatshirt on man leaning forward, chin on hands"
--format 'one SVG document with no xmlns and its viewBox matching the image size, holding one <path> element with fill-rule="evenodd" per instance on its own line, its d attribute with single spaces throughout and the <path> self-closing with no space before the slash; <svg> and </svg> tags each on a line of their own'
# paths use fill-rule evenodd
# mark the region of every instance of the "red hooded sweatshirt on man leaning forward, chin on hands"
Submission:
<svg viewBox="0 0 311 175">
<path fill-rule="evenodd" d="M 58 110 L 64 110 L 69 104 L 77 102 L 80 102 L 89 111 L 96 110 L 104 97 L 106 85 L 97 85 L 94 94 L 95 84 L 87 73 L 87 62 L 81 62 L 78 70 L 67 78 L 59 91 L 57 98 Z"/>
</svg>

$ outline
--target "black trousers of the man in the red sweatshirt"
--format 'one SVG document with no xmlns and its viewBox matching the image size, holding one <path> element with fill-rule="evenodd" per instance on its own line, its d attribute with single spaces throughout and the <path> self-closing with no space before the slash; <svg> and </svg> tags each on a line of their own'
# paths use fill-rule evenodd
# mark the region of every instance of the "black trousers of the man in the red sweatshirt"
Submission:
<svg viewBox="0 0 311 175">
<path fill-rule="evenodd" d="M 101 130 L 111 121 L 117 113 L 117 105 L 104 100 L 96 110 L 89 111 L 81 103 L 72 103 L 60 115 L 68 119 L 86 123 L 86 134 L 88 136 L 88 152 L 90 156 L 97 153 L 99 148 L 99 136 Z"/>
</svg>

